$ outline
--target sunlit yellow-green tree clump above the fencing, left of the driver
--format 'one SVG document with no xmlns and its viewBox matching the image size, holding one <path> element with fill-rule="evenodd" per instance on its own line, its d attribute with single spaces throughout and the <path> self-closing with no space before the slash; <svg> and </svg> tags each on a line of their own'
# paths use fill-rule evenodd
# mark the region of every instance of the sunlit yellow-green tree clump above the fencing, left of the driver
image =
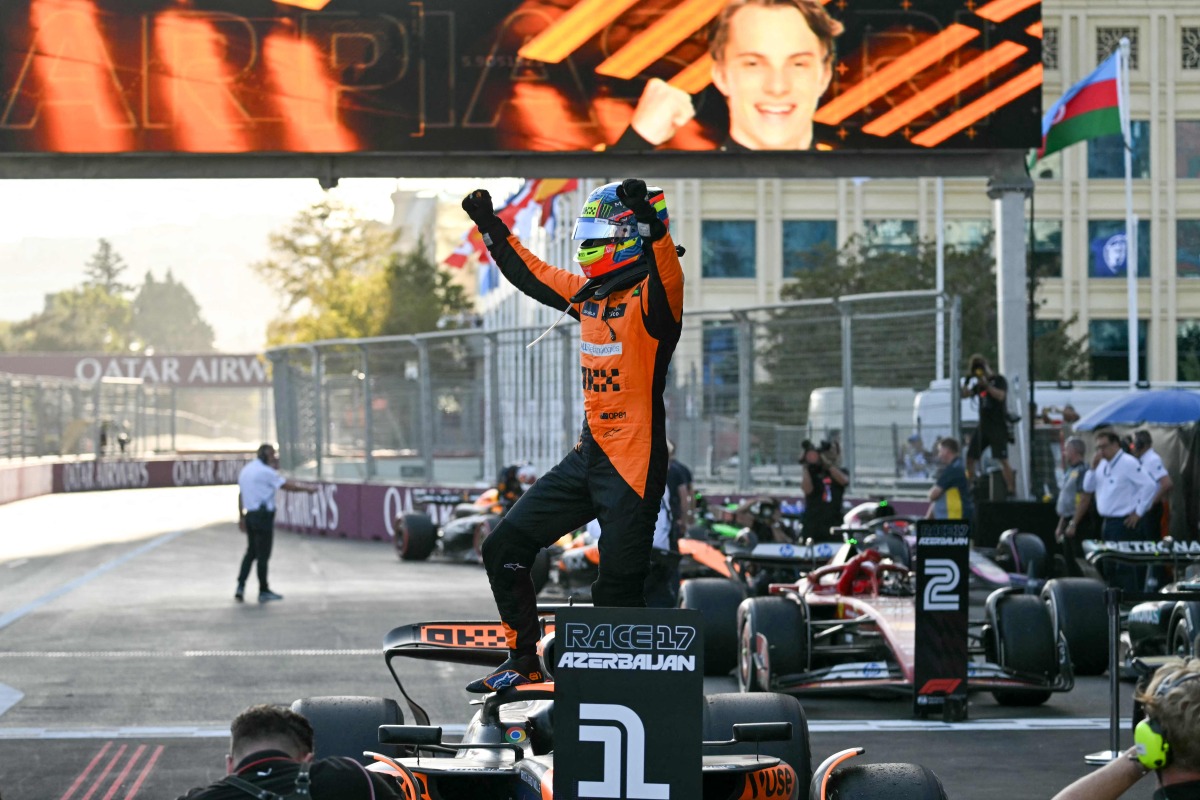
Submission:
<svg viewBox="0 0 1200 800">
<path fill-rule="evenodd" d="M 430 260 L 424 243 L 397 253 L 398 237 L 334 200 L 296 215 L 271 235 L 272 257 L 253 265 L 287 309 L 268 326 L 268 341 L 418 333 L 467 309 L 466 293 Z"/>
</svg>

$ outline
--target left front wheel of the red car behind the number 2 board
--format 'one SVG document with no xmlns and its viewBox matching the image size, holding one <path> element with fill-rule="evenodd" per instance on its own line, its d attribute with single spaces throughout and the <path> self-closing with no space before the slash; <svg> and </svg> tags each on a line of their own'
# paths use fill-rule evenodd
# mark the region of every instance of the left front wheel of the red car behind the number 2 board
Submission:
<svg viewBox="0 0 1200 800">
<path fill-rule="evenodd" d="M 738 687 L 769 692 L 776 675 L 809 666 L 808 613 L 786 597 L 749 597 L 738 607 Z"/>
</svg>

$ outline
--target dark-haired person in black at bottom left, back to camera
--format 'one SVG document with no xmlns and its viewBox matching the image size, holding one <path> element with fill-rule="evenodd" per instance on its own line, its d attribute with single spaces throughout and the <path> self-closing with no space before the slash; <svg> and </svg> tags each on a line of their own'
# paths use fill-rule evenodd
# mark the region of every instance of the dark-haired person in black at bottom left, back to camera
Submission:
<svg viewBox="0 0 1200 800">
<path fill-rule="evenodd" d="M 282 705 L 252 705 L 229 726 L 226 777 L 179 800 L 400 800 L 408 796 L 352 758 L 313 760 L 313 730 Z"/>
</svg>

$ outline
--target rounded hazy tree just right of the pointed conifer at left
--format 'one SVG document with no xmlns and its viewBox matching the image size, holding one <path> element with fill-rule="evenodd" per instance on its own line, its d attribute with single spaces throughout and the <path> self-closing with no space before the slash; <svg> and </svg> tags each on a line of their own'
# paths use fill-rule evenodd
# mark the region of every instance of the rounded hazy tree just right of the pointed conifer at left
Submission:
<svg viewBox="0 0 1200 800">
<path fill-rule="evenodd" d="M 200 314 L 200 306 L 187 287 L 167 270 L 166 281 L 146 272 L 133 299 L 132 338 L 142 349 L 160 353 L 211 353 L 212 326 Z"/>
</svg>

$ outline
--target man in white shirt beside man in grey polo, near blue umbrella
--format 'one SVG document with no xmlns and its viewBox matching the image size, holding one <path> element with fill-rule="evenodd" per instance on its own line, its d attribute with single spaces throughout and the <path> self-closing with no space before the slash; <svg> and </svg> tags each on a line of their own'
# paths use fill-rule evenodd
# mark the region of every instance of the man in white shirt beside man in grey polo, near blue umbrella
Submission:
<svg viewBox="0 0 1200 800">
<path fill-rule="evenodd" d="M 1094 498 L 1100 515 L 1100 537 L 1106 542 L 1142 539 L 1139 527 L 1154 498 L 1157 483 L 1141 468 L 1136 457 L 1121 447 L 1121 439 L 1111 431 L 1096 434 L 1096 456 L 1092 469 L 1084 475 L 1084 494 L 1075 516 L 1067 524 L 1067 535 L 1074 536 L 1080 519 Z M 1106 565 L 1105 579 L 1124 591 L 1141 591 L 1145 569 L 1127 564 Z"/>
</svg>

